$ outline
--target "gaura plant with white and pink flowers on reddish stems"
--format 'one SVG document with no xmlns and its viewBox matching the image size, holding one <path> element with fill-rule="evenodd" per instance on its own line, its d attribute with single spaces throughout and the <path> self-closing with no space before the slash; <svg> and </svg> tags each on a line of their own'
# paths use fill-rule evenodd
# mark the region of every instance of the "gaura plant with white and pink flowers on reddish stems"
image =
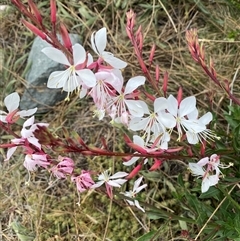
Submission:
<svg viewBox="0 0 240 241">
<path fill-rule="evenodd" d="M 132 10 L 127 13 L 126 33 L 142 73 L 126 79 L 124 68 L 128 63 L 121 60 L 117 54 L 106 51 L 105 27 L 92 33 L 89 40 L 92 49 L 85 49 L 81 44 L 72 45 L 66 27 L 61 23 L 56 24 L 57 8 L 54 0 L 50 1 L 51 30 L 44 26 L 42 15 L 31 0 L 28 1 L 28 6 L 20 0 L 12 0 L 12 3 L 28 19 L 22 20 L 22 23 L 51 44 L 51 47 L 44 48 L 42 52 L 66 67 L 64 71 L 51 73 L 47 86 L 67 92 L 66 101 L 73 94 L 79 95 L 81 99 L 91 97 L 89 105 L 94 105 L 95 118 L 99 121 L 110 118 L 112 124 L 117 124 L 114 126 L 121 125 L 126 128 L 131 136 L 125 134 L 124 141 L 133 151 L 111 151 L 104 139 L 100 143 L 101 148 L 90 146 L 77 133 L 69 133 L 67 129 L 63 130 L 62 137 L 56 137 L 48 129 L 48 123 L 35 123 L 36 108 L 19 111 L 20 97 L 14 92 L 4 99 L 7 112 L 0 111 L 1 128 L 13 136 L 10 143 L 0 145 L 7 148 L 6 161 L 14 155 L 17 148 L 21 148 L 25 155 L 23 165 L 29 172 L 45 168 L 58 179 L 70 177 L 69 180 L 76 183 L 80 193 L 104 185 L 109 198 L 113 199 L 116 194 L 142 212 L 156 210 L 137 198 L 137 194 L 147 187 L 141 175 L 141 170 L 147 163 L 150 165 L 151 173 L 161 168 L 162 163 L 168 160 L 192 160 L 189 169 L 202 180 L 202 193 L 208 193 L 210 187 L 218 184 L 219 179 L 223 177 L 222 168 L 231 164 L 220 162 L 221 155 L 216 145 L 220 137 L 209 128 L 213 114 L 207 112 L 200 116 L 195 96 L 183 98 L 182 88 L 178 93 L 167 93 L 168 73 L 164 73 L 163 78 L 160 78 L 160 68 L 154 65 L 155 45 L 148 60 L 144 60 L 142 28 L 140 26 L 135 31 L 136 16 Z M 57 33 L 60 33 L 62 41 L 57 37 Z M 217 79 L 213 62 L 210 63 L 210 67 L 205 63 L 204 50 L 198 43 L 196 30 L 187 31 L 187 41 L 193 59 L 201 65 L 216 85 L 226 91 L 229 99 L 239 105 L 240 101 L 230 91 L 229 83 L 225 81 L 223 85 Z M 148 88 L 145 88 L 146 85 Z M 20 134 L 17 134 L 14 131 L 14 124 L 19 118 L 28 119 L 25 120 Z M 74 160 L 68 157 L 72 152 L 85 156 L 118 157 L 122 160 L 122 170 L 116 173 L 112 173 L 110 168 L 102 170 L 101 173 L 98 170 L 79 172 L 79 169 L 75 168 Z M 125 172 L 126 167 L 128 170 L 131 167 L 131 171 Z M 136 181 L 132 190 L 117 192 L 133 178 L 136 178 Z M 187 192 L 190 193 L 189 190 L 185 190 L 185 193 Z M 176 195 L 179 200 L 183 197 L 184 195 Z M 234 200 L 232 202 L 235 208 L 239 208 Z M 172 214 L 171 218 L 192 222 Z"/>
</svg>

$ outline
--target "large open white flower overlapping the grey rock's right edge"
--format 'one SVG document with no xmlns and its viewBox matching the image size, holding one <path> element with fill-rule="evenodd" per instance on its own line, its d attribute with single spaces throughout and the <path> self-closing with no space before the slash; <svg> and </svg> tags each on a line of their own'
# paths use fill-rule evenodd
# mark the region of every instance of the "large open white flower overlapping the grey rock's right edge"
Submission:
<svg viewBox="0 0 240 241">
<path fill-rule="evenodd" d="M 69 66 L 64 71 L 55 71 L 48 78 L 48 88 L 63 88 L 64 91 L 71 93 L 73 90 L 80 90 L 80 86 L 84 84 L 87 87 L 93 87 L 96 84 L 94 73 L 86 68 L 87 54 L 85 49 L 80 44 L 74 44 L 73 64 L 60 50 L 53 47 L 46 47 L 42 52 L 50 59 Z M 89 56 L 89 55 L 88 55 Z"/>
</svg>

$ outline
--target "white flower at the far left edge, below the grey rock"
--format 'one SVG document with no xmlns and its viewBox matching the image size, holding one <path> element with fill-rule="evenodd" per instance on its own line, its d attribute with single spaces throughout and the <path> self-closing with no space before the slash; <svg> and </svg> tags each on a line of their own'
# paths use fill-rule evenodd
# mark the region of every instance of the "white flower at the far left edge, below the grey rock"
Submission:
<svg viewBox="0 0 240 241">
<path fill-rule="evenodd" d="M 8 110 L 8 113 L 0 110 L 0 121 L 12 123 L 15 121 L 15 119 L 17 120 L 18 117 L 24 118 L 26 116 L 33 115 L 37 111 L 37 108 L 18 111 L 19 102 L 20 97 L 17 92 L 13 92 L 6 96 L 4 99 L 4 104 Z"/>
</svg>

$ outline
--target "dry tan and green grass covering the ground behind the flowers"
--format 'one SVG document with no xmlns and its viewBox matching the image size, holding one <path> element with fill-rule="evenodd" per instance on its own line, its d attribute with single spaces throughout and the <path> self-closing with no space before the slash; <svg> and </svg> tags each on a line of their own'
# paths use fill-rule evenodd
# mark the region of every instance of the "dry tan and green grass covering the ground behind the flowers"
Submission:
<svg viewBox="0 0 240 241">
<path fill-rule="evenodd" d="M 25 1 L 26 2 L 26 1 Z M 208 96 L 213 96 L 213 112 L 218 118 L 226 110 L 228 103 L 224 93 L 215 88 L 201 69 L 196 66 L 188 52 L 185 31 L 197 28 L 201 42 L 204 43 L 209 58 L 214 59 L 215 68 L 222 80 L 232 80 L 240 63 L 238 24 L 239 8 L 237 1 L 58 1 L 58 16 L 70 32 L 82 36 L 83 45 L 90 49 L 89 39 L 92 31 L 106 26 L 109 33 L 109 51 L 117 53 L 129 62 L 126 79 L 141 74 L 131 44 L 126 38 L 125 16 L 132 8 L 137 13 L 137 24 L 145 33 L 146 58 L 153 43 L 157 51 L 155 62 L 162 72 L 170 75 L 168 93 L 174 94 L 180 86 L 184 96 L 198 96 L 198 106 L 208 110 Z M 48 1 L 39 1 L 43 12 L 49 12 Z M 237 5 L 238 6 L 238 5 Z M 9 3 L 7 12 L 1 12 L 0 22 L 0 103 L 4 97 L 25 88 L 24 69 L 34 36 L 19 24 L 21 14 Z M 47 22 L 47 17 L 46 20 Z M 237 74 L 239 76 L 239 74 Z M 237 78 L 236 78 L 237 79 Z M 234 92 L 239 93 L 236 80 Z M 92 118 L 89 101 L 79 101 L 73 97 L 71 102 L 61 103 L 41 116 L 50 122 L 52 128 L 68 126 L 74 128 L 88 143 L 98 144 L 102 135 L 112 148 L 124 150 L 120 134 L 108 124 Z M 69 107 L 70 105 L 70 107 Z M 2 107 L 3 108 L 3 107 Z M 2 109 L 1 108 L 1 109 Z M 223 125 L 224 125 L 223 121 Z M 218 127 L 221 128 L 221 127 Z M 0 130 L 1 143 L 8 137 Z M 180 223 L 176 221 L 149 220 L 145 215 L 128 207 L 121 200 L 113 203 L 101 192 L 88 192 L 81 195 L 80 206 L 75 186 L 70 181 L 55 181 L 44 170 L 31 175 L 26 185 L 28 173 L 22 166 L 23 155 L 18 153 L 10 162 L 2 162 L 5 153 L 0 150 L 0 240 L 17 240 L 11 223 L 18 221 L 27 236 L 34 232 L 36 240 L 137 240 L 147 231 L 161 226 L 161 236 L 166 240 L 186 240 L 180 236 Z M 79 167 L 94 167 L 102 170 L 109 165 L 119 168 L 117 159 L 99 159 L 72 156 Z M 109 164 L 110 163 L 110 164 Z M 174 192 L 177 174 L 182 172 L 185 181 L 191 185 L 191 178 L 184 163 L 174 160 L 164 164 L 158 181 L 149 181 L 148 193 L 142 198 L 163 210 L 177 213 L 178 203 L 171 195 Z M 171 192 L 170 192 L 170 191 Z M 155 200 L 155 201 L 153 201 Z M 194 230 L 191 230 L 194 232 Z M 105 233 L 105 234 L 104 234 Z M 106 237 L 104 239 L 104 236 Z"/>
</svg>

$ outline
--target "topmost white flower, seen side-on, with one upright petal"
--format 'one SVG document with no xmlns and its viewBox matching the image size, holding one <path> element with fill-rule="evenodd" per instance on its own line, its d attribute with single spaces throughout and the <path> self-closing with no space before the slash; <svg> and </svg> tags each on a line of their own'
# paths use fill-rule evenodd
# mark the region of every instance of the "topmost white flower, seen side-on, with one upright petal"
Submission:
<svg viewBox="0 0 240 241">
<path fill-rule="evenodd" d="M 106 28 L 101 28 L 97 32 L 92 33 L 91 45 L 94 52 L 113 68 L 122 69 L 127 66 L 126 62 L 114 57 L 112 53 L 104 51 L 107 45 Z"/>
</svg>

